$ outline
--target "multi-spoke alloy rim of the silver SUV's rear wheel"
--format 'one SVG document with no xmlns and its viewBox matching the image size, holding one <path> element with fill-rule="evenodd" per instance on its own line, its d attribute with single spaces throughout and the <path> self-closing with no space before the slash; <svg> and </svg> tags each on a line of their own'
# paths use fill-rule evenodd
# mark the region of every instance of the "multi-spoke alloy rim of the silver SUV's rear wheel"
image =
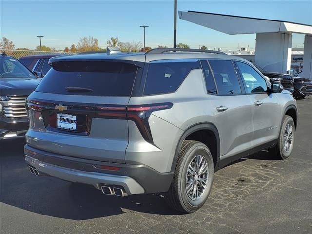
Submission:
<svg viewBox="0 0 312 234">
<path fill-rule="evenodd" d="M 195 156 L 187 167 L 186 193 L 192 200 L 198 200 L 207 188 L 208 162 L 202 155 Z"/>
</svg>

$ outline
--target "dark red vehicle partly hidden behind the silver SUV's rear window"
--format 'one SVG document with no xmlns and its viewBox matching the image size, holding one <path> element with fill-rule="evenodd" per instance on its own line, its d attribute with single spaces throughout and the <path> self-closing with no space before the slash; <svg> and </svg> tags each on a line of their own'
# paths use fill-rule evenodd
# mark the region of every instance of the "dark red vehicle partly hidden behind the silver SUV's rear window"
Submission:
<svg viewBox="0 0 312 234">
<path fill-rule="evenodd" d="M 62 54 L 40 54 L 40 55 L 27 55 L 20 57 L 20 62 L 28 67 L 29 70 L 36 72 L 40 78 L 43 78 L 45 74 L 50 70 L 48 64 L 49 59 Z"/>
</svg>

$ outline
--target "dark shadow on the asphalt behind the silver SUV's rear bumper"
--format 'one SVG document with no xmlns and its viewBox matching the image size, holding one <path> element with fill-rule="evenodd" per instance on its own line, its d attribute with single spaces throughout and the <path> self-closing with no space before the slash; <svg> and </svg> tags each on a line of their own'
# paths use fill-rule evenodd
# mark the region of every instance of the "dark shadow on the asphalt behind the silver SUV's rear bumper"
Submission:
<svg viewBox="0 0 312 234">
<path fill-rule="evenodd" d="M 93 186 L 32 175 L 24 162 L 24 141 L 0 142 L 0 202 L 26 211 L 72 220 L 125 212 L 178 215 L 161 194 L 117 197 Z"/>
</svg>

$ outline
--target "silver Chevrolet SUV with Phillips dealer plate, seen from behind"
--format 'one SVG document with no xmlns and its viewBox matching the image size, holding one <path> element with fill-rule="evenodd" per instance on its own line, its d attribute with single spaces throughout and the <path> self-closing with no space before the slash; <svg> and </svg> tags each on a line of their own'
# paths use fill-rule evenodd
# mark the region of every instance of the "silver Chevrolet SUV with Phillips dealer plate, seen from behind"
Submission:
<svg viewBox="0 0 312 234">
<path fill-rule="evenodd" d="M 51 58 L 27 98 L 30 172 L 93 185 L 105 195 L 167 192 L 194 212 L 214 172 L 257 151 L 292 152 L 297 107 L 248 61 L 218 51 Z"/>
</svg>

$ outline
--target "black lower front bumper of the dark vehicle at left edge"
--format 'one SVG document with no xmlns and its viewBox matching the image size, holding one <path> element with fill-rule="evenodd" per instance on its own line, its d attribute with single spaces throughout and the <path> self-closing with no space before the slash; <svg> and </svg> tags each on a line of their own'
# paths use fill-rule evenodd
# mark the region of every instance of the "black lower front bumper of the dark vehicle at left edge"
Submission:
<svg viewBox="0 0 312 234">
<path fill-rule="evenodd" d="M 28 118 L 0 117 L 0 139 L 25 137 L 28 129 Z"/>
</svg>

